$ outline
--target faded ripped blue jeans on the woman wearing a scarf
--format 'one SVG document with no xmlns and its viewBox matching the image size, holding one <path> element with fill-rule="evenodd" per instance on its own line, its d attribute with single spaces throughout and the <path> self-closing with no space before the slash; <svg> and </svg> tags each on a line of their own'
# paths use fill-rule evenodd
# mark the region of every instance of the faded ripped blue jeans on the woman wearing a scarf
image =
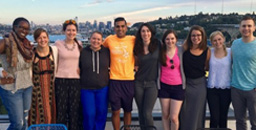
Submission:
<svg viewBox="0 0 256 130">
<path fill-rule="evenodd" d="M 15 93 L 0 87 L 0 95 L 10 120 L 7 130 L 26 130 L 32 87 L 19 89 Z"/>
</svg>

